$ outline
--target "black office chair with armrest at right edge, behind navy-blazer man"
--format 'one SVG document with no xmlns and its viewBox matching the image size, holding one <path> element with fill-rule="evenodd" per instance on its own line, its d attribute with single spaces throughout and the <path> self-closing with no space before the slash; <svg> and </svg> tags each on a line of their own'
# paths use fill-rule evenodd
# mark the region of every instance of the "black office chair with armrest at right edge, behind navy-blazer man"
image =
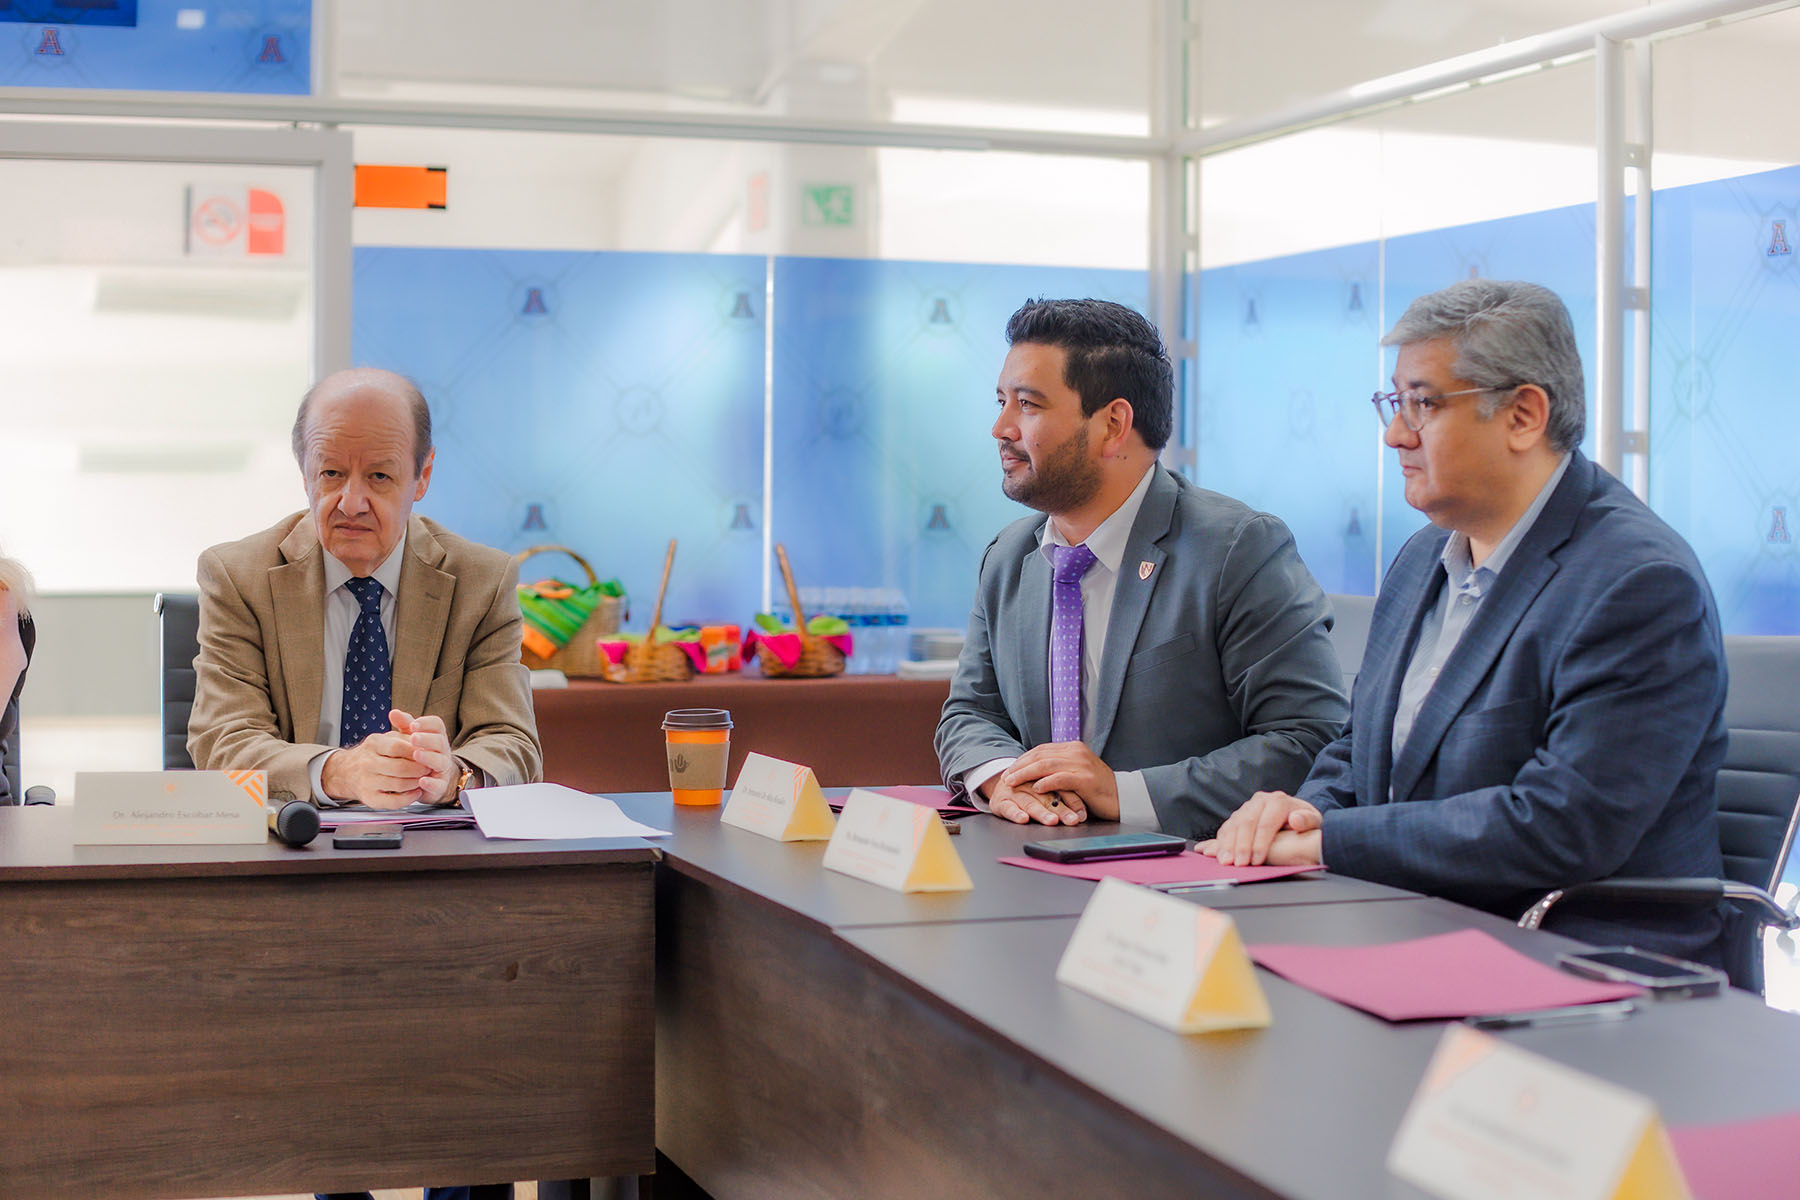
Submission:
<svg viewBox="0 0 1800 1200">
<path fill-rule="evenodd" d="M 1719 770 L 1723 880 L 1598 880 L 1550 892 L 1525 916 L 1537 928 L 1557 903 L 1580 900 L 1701 905 L 1732 901 L 1726 975 L 1762 991 L 1762 930 L 1800 928 L 1775 900 L 1800 822 L 1800 637 L 1728 637 L 1724 700 L 1730 745 Z"/>
</svg>

